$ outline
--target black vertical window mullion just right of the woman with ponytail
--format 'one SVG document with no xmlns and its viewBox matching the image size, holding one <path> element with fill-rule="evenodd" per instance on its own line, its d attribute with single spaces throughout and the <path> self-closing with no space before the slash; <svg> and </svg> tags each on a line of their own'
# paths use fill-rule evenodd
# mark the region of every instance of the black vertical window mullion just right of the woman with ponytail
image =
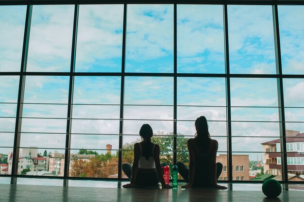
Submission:
<svg viewBox="0 0 304 202">
<path fill-rule="evenodd" d="M 224 39 L 225 39 L 225 70 L 226 70 L 226 118 L 227 118 L 227 168 L 228 182 L 232 183 L 232 133 L 231 133 L 231 98 L 230 98 L 230 66 L 229 66 L 229 41 L 228 41 L 228 11 L 227 4 L 223 5 Z M 231 185 L 231 184 L 230 184 Z M 232 189 L 232 186 L 229 186 Z"/>
</svg>

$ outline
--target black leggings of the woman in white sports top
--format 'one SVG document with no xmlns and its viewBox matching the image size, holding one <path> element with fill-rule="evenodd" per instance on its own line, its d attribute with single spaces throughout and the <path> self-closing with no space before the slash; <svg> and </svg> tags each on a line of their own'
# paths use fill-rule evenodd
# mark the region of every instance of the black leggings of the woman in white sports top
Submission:
<svg viewBox="0 0 304 202">
<path fill-rule="evenodd" d="M 161 164 L 162 167 L 167 166 L 166 163 Z M 132 166 L 130 164 L 124 163 L 122 164 L 122 171 L 127 175 L 129 180 L 131 181 L 132 177 Z M 152 173 L 145 173 L 141 172 L 139 169 L 136 173 L 135 185 L 142 185 L 142 186 L 155 186 L 159 183 L 157 171 Z"/>
</svg>

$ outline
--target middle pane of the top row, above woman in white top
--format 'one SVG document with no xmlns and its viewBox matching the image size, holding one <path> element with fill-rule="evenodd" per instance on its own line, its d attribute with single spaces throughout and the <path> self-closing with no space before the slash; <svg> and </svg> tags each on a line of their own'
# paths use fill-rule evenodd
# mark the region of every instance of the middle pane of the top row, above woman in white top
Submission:
<svg viewBox="0 0 304 202">
<path fill-rule="evenodd" d="M 173 5 L 128 5 L 126 72 L 173 72 Z"/>
</svg>

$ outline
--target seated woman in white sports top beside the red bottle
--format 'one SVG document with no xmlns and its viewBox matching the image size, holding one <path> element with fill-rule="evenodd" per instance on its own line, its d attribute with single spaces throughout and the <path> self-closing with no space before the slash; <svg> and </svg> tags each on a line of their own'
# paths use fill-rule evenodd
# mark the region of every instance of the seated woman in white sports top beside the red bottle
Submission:
<svg viewBox="0 0 304 202">
<path fill-rule="evenodd" d="M 143 124 L 139 135 L 143 141 L 134 145 L 134 162 L 131 167 L 129 164 L 122 164 L 123 172 L 131 180 L 130 184 L 123 185 L 124 188 L 137 186 L 156 186 L 159 181 L 163 188 L 171 188 L 165 184 L 162 168 L 159 160 L 159 146 L 152 143 L 152 128 L 149 124 Z"/>
</svg>

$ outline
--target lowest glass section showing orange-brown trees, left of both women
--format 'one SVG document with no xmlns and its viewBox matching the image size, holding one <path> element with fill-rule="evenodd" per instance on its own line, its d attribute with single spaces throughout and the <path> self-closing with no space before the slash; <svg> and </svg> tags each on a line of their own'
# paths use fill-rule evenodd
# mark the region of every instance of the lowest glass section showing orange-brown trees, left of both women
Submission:
<svg viewBox="0 0 304 202">
<path fill-rule="evenodd" d="M 118 151 L 92 153 L 70 151 L 70 177 L 118 178 Z"/>
</svg>

